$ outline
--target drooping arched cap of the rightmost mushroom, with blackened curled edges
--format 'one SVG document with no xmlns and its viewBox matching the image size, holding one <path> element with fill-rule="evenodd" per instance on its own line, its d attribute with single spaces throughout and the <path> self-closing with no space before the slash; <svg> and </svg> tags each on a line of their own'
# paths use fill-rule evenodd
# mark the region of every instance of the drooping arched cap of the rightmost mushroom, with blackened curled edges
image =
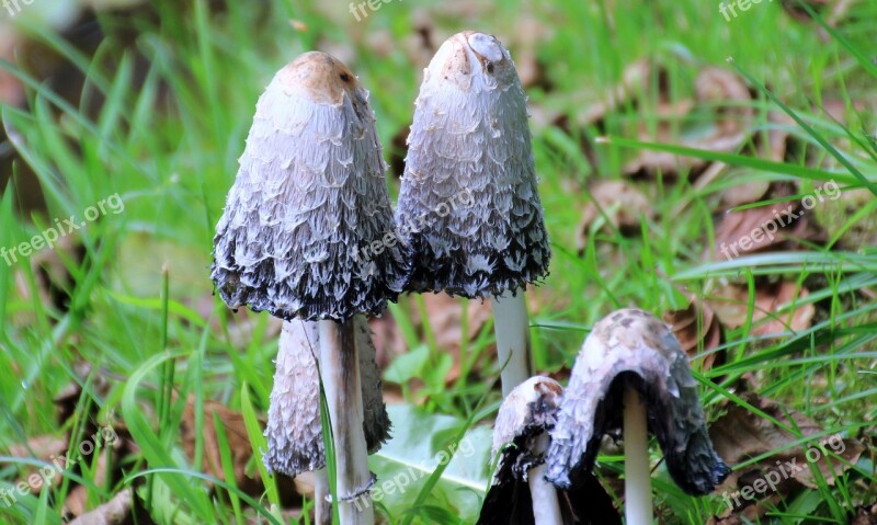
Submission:
<svg viewBox="0 0 877 525">
<path fill-rule="evenodd" d="M 730 469 L 713 449 L 688 357 L 667 324 L 637 309 L 610 313 L 585 339 L 551 431 L 546 477 L 568 487 L 593 467 L 603 435 L 620 431 L 625 388 L 646 400 L 675 483 L 692 495 L 713 492 Z"/>
</svg>

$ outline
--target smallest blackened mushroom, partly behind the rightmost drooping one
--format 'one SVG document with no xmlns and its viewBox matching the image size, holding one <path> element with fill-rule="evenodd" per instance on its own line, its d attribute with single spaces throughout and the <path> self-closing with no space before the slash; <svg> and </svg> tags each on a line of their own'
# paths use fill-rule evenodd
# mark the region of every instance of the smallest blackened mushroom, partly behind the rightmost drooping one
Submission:
<svg viewBox="0 0 877 525">
<path fill-rule="evenodd" d="M 548 433 L 557 423 L 561 395 L 560 384 L 536 376 L 502 402 L 492 455 L 502 456 L 477 525 L 622 524 L 612 498 L 590 471 L 569 489 L 557 489 L 545 479 Z"/>
</svg>

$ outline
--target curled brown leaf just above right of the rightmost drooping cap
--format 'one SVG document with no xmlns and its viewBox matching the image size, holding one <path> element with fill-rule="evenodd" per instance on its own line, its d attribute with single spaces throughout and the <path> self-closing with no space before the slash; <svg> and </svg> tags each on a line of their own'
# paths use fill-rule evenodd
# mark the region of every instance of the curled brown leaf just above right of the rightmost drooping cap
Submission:
<svg viewBox="0 0 877 525">
<path fill-rule="evenodd" d="M 670 324 L 688 357 L 705 354 L 695 363 L 698 369 L 706 372 L 725 362 L 724 351 L 711 352 L 725 343 L 725 331 L 709 305 L 692 294 L 688 294 L 688 301 L 682 310 L 665 312 L 663 320 Z"/>
</svg>

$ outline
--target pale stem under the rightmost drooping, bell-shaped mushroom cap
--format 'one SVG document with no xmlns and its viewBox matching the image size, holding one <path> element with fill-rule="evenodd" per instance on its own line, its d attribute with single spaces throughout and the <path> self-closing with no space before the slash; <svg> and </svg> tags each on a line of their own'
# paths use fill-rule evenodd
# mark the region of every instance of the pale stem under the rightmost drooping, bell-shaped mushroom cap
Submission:
<svg viewBox="0 0 877 525">
<path fill-rule="evenodd" d="M 624 506 L 626 525 L 651 525 L 649 424 L 646 403 L 628 387 L 624 392 Z"/>
</svg>

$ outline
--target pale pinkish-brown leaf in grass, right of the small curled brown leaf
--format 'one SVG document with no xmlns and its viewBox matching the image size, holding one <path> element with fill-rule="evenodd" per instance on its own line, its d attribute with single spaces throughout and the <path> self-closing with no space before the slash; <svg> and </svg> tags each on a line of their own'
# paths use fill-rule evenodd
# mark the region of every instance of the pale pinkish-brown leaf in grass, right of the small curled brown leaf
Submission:
<svg viewBox="0 0 877 525">
<path fill-rule="evenodd" d="M 779 282 L 755 289 L 755 305 L 752 312 L 752 335 L 770 335 L 782 332 L 798 332 L 810 328 L 816 308 L 805 304 L 809 292 L 793 282 Z M 779 313 L 778 308 L 796 303 L 793 312 Z M 721 323 L 728 328 L 740 328 L 747 322 L 749 289 L 741 285 L 727 285 L 716 289 L 706 303 L 713 308 Z"/>
</svg>

